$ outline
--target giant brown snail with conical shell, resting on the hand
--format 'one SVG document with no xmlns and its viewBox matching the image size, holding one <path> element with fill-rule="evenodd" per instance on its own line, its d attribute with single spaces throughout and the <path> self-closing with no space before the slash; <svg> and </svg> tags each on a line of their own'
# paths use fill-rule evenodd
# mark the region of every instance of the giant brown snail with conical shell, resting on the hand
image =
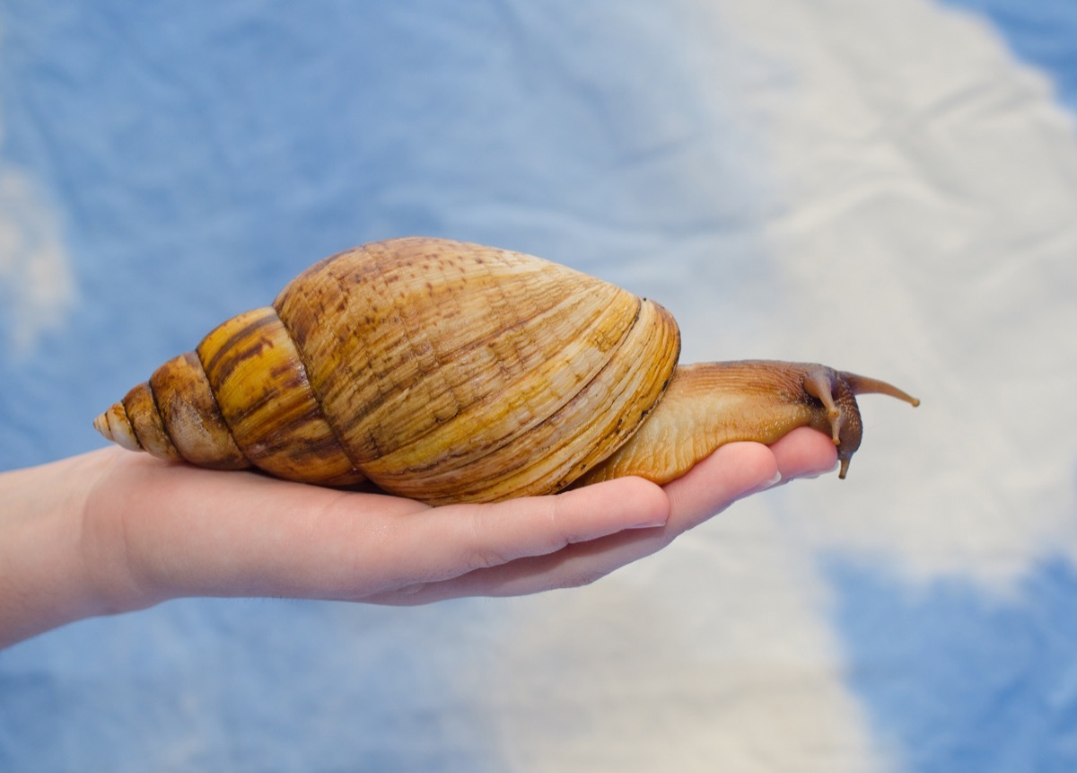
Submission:
<svg viewBox="0 0 1077 773">
<path fill-rule="evenodd" d="M 803 425 L 833 437 L 843 478 L 856 394 L 919 404 L 823 365 L 679 354 L 672 315 L 613 284 L 507 250 L 393 239 L 314 264 L 94 425 L 162 459 L 445 504 L 663 483 L 723 444 Z"/>
</svg>

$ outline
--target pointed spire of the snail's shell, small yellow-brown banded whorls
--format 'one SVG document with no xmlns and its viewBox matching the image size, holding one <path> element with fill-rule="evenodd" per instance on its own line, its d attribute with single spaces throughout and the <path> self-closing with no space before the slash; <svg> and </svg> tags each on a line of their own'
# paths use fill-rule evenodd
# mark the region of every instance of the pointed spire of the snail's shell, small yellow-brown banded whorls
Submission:
<svg viewBox="0 0 1077 773">
<path fill-rule="evenodd" d="M 232 318 L 98 417 L 109 439 L 214 469 L 327 486 L 364 476 L 333 436 L 272 308 Z"/>
</svg>

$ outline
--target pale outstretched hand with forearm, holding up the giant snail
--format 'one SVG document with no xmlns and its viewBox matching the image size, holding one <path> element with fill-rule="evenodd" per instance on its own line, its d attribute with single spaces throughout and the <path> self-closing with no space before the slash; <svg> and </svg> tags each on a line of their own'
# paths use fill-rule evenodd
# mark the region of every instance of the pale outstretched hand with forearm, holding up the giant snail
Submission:
<svg viewBox="0 0 1077 773">
<path fill-rule="evenodd" d="M 412 605 L 584 586 L 836 464 L 831 438 L 801 427 L 723 446 L 662 487 L 432 508 L 103 448 L 0 474 L 0 647 L 184 596 Z"/>
</svg>

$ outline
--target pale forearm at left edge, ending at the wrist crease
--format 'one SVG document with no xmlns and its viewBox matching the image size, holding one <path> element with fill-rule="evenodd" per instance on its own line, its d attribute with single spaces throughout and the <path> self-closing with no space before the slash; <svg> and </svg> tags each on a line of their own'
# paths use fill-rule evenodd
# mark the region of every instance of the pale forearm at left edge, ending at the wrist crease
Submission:
<svg viewBox="0 0 1077 773">
<path fill-rule="evenodd" d="M 0 647 L 112 612 L 88 571 L 82 523 L 107 463 L 92 453 L 0 474 Z"/>
</svg>

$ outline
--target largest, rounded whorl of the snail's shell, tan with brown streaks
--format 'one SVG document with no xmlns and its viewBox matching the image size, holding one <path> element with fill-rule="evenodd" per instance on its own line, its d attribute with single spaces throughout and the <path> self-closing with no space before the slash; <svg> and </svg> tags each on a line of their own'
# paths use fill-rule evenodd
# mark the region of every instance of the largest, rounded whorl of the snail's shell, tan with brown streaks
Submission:
<svg viewBox="0 0 1077 773">
<path fill-rule="evenodd" d="M 435 504 L 563 488 L 635 432 L 680 353 L 657 304 L 440 239 L 326 258 L 275 306 L 356 466 Z"/>
</svg>

